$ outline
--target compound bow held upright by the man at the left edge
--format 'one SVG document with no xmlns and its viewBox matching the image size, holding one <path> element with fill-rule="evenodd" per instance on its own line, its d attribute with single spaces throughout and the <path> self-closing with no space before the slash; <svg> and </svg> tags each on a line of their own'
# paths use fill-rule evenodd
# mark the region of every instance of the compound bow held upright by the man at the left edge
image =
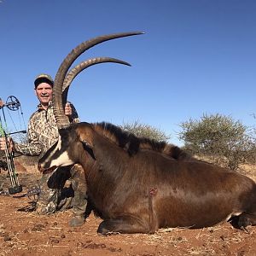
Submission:
<svg viewBox="0 0 256 256">
<path fill-rule="evenodd" d="M 0 137 L 3 137 L 5 140 L 5 143 L 7 147 L 4 149 L 5 153 L 5 158 L 7 162 L 7 167 L 8 167 L 8 172 L 9 172 L 9 178 L 10 178 L 10 183 L 11 187 L 9 188 L 9 194 L 13 195 L 16 193 L 20 193 L 22 191 L 22 185 L 19 183 L 18 175 L 16 172 L 16 167 L 15 167 L 15 161 L 14 161 L 14 152 L 10 148 L 10 141 L 9 141 L 9 135 L 15 134 L 15 133 L 26 133 L 25 130 L 22 131 L 15 131 L 15 132 L 9 132 L 7 129 L 7 122 L 5 118 L 5 113 L 4 113 L 4 108 L 8 108 L 11 111 L 16 111 L 19 110 L 21 111 L 21 106 L 19 100 L 15 96 L 9 96 L 4 103 L 2 99 L 0 98 L 0 109 L 2 109 L 2 114 L 3 114 L 3 122 L 4 122 L 4 128 L 3 128 L 3 122 L 0 114 Z M 22 111 L 21 111 L 21 114 Z"/>
</svg>

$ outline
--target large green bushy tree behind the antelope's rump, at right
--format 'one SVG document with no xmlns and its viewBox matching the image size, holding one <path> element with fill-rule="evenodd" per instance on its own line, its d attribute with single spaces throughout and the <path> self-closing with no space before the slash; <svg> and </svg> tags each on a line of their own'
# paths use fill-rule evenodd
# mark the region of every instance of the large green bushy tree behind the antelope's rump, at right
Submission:
<svg viewBox="0 0 256 256">
<path fill-rule="evenodd" d="M 247 126 L 230 116 L 203 114 L 200 120 L 189 119 L 180 126 L 183 131 L 179 138 L 185 149 L 232 170 L 246 163 L 255 148 L 255 138 Z"/>
</svg>

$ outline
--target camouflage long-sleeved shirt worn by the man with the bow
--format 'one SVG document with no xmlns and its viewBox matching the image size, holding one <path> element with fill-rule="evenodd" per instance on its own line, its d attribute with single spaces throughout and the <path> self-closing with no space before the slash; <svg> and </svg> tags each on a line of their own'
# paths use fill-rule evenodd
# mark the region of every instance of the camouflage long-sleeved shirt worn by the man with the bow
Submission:
<svg viewBox="0 0 256 256">
<path fill-rule="evenodd" d="M 79 123 L 79 115 L 72 107 L 72 123 Z M 39 155 L 49 149 L 59 137 L 58 128 L 53 113 L 51 102 L 45 110 L 38 105 L 38 110 L 32 113 L 27 127 L 28 143 L 15 143 L 15 151 L 26 155 Z"/>
</svg>

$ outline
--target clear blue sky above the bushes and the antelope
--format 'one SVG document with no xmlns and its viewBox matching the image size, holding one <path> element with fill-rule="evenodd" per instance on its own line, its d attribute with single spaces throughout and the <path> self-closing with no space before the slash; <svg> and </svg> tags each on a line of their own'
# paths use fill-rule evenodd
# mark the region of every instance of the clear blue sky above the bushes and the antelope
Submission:
<svg viewBox="0 0 256 256">
<path fill-rule="evenodd" d="M 55 77 L 65 56 L 90 38 L 140 31 L 96 45 L 74 62 L 109 56 L 131 63 L 79 74 L 68 100 L 81 121 L 139 121 L 177 145 L 183 144 L 180 124 L 203 114 L 252 126 L 255 27 L 254 0 L 1 0 L 0 97 L 16 96 L 27 124 L 38 105 L 33 81 L 39 73 Z M 6 113 L 18 130 L 19 116 Z"/>
</svg>

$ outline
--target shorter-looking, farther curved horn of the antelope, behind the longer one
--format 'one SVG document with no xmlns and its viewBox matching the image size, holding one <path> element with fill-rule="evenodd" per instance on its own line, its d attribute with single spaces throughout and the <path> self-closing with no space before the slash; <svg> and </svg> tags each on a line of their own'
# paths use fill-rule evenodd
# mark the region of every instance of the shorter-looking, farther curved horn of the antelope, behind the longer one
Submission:
<svg viewBox="0 0 256 256">
<path fill-rule="evenodd" d="M 119 59 L 114 59 L 114 58 L 110 58 L 110 57 L 97 57 L 97 58 L 89 59 L 87 61 L 83 61 L 83 62 L 79 63 L 79 65 L 77 65 L 76 67 L 73 67 L 73 69 L 71 69 L 67 73 L 67 76 L 64 79 L 63 86 L 62 86 L 62 104 L 63 104 L 63 106 L 65 106 L 65 104 L 67 102 L 67 93 L 68 93 L 70 84 L 73 82 L 73 79 L 75 79 L 75 77 L 81 71 L 83 71 L 85 68 L 96 65 L 96 64 L 107 63 L 107 62 L 123 64 L 123 65 L 131 67 L 131 64 L 126 61 L 121 61 Z"/>
</svg>

